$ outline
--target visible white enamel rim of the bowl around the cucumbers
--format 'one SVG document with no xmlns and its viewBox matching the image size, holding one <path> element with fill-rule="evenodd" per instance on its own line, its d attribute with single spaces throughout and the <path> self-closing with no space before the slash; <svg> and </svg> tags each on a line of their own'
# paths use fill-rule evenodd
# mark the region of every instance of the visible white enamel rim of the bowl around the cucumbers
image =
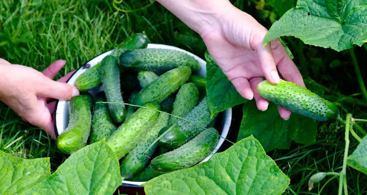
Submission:
<svg viewBox="0 0 367 195">
<path fill-rule="evenodd" d="M 173 49 L 173 50 L 178 50 L 178 51 L 184 52 L 184 53 L 194 57 L 196 60 L 199 61 L 199 64 L 201 66 L 201 70 L 198 71 L 196 74 L 200 75 L 200 76 L 203 76 L 203 77 L 206 77 L 206 61 L 199 58 L 199 57 L 197 57 L 196 55 L 194 55 L 190 52 L 187 52 L 187 51 L 185 51 L 183 49 L 180 49 L 180 48 L 177 48 L 177 47 L 173 47 L 173 46 L 169 46 L 169 45 L 162 45 L 162 44 L 148 44 L 147 48 Z M 112 51 L 113 50 L 105 52 L 105 53 L 91 59 L 90 61 L 88 61 L 85 65 L 83 65 L 77 71 L 75 71 L 75 73 L 69 78 L 67 83 L 74 85 L 76 79 L 80 75 L 82 75 L 88 68 L 91 68 L 94 65 L 96 65 L 98 62 L 102 61 L 102 59 L 104 57 L 106 57 L 107 55 L 109 55 Z M 93 89 L 93 90 L 89 91 L 89 93 L 91 93 L 92 96 L 94 97 L 95 94 L 97 94 L 100 91 L 103 91 L 103 87 L 99 87 L 98 89 Z M 222 129 L 221 129 L 222 131 L 220 129 L 218 129 L 218 131 L 222 132 L 222 134 L 221 134 L 222 137 L 219 138 L 218 144 L 215 147 L 215 149 L 211 152 L 211 154 L 209 156 L 206 156 L 206 158 L 203 159 L 200 163 L 209 160 L 219 150 L 219 148 L 222 146 L 222 144 L 224 142 L 223 137 L 227 137 L 228 132 L 229 132 L 229 127 L 230 127 L 230 124 L 231 124 L 231 118 L 232 118 L 232 110 L 231 109 L 225 110 L 222 117 L 218 118 L 219 120 L 221 120 L 221 126 L 222 126 Z M 69 101 L 65 101 L 65 100 L 56 101 L 54 120 L 55 120 L 55 133 L 56 133 L 56 136 L 58 136 L 68 127 L 68 122 L 69 122 Z M 122 186 L 141 188 L 142 187 L 141 184 L 143 184 L 143 183 L 145 183 L 145 182 L 122 181 Z"/>
</svg>

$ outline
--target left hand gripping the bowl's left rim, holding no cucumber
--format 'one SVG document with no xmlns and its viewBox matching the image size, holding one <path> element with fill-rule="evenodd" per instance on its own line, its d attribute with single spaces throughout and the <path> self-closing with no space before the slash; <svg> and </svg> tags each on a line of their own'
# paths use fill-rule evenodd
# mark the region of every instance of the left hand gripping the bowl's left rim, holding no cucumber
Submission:
<svg viewBox="0 0 367 195">
<path fill-rule="evenodd" d="M 69 100 L 79 95 L 76 87 L 65 83 L 73 72 L 58 81 L 52 80 L 65 63 L 57 60 L 41 73 L 0 59 L 0 100 L 24 121 L 43 128 L 53 139 L 56 138 L 52 119 L 55 102 L 47 101 Z"/>
</svg>

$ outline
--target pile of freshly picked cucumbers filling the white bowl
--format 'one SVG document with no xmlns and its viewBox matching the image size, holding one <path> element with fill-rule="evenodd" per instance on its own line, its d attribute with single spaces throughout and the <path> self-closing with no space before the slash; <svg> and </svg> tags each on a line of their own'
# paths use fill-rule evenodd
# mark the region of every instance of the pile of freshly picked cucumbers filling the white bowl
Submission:
<svg viewBox="0 0 367 195">
<path fill-rule="evenodd" d="M 206 98 L 206 79 L 196 59 L 184 52 L 147 49 L 134 34 L 77 78 L 82 92 L 69 101 L 68 128 L 58 149 L 71 154 L 102 139 L 120 159 L 125 180 L 147 181 L 191 167 L 215 148 Z M 94 98 L 88 93 L 103 86 Z M 126 103 L 125 103 L 126 102 Z"/>
</svg>

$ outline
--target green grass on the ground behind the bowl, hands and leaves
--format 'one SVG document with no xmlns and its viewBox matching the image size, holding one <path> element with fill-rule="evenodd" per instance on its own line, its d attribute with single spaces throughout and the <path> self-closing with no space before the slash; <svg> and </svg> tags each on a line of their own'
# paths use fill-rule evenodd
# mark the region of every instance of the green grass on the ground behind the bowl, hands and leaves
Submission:
<svg viewBox="0 0 367 195">
<path fill-rule="evenodd" d="M 257 6 L 255 0 L 234 0 L 233 4 L 252 14 L 270 27 L 272 9 Z M 125 0 L 125 9 L 137 9 L 149 1 Z M 122 6 L 119 5 L 119 6 Z M 265 13 L 265 14 L 264 14 Z M 267 13 L 267 14 L 266 14 Z M 0 58 L 23 64 L 39 71 L 57 59 L 66 59 L 67 65 L 57 78 L 80 67 L 89 59 L 114 48 L 127 36 L 145 32 L 155 43 L 184 48 L 201 57 L 206 51 L 200 37 L 174 17 L 160 4 L 124 14 L 112 5 L 112 0 L 1 0 L 0 1 Z M 339 101 L 344 107 L 342 117 L 351 112 L 354 117 L 367 118 L 366 107 L 340 101 L 347 97 L 361 100 L 349 52 L 337 53 L 304 45 L 298 39 L 286 38 L 304 78 L 310 77 L 325 86 L 327 98 Z M 366 50 L 356 48 L 357 59 L 363 59 Z M 340 64 L 332 66 L 331 64 Z M 366 73 L 366 67 L 360 67 Z M 362 74 L 364 77 L 364 74 Z M 352 101 L 353 102 L 353 101 Z M 364 129 L 366 125 L 360 123 Z M 358 142 L 350 138 L 350 153 Z M 0 150 L 23 158 L 50 157 L 51 170 L 66 159 L 55 148 L 55 143 L 39 128 L 23 122 L 7 106 L 0 103 Z M 315 195 L 321 191 L 322 181 L 309 192 L 307 182 L 317 172 L 340 172 L 344 154 L 344 125 L 320 123 L 317 141 L 310 145 L 292 143 L 288 150 L 268 153 L 291 178 L 285 194 Z M 330 179 L 332 177 L 328 177 Z M 367 194 L 367 176 L 347 169 L 349 194 Z M 329 181 L 322 195 L 336 194 L 338 179 Z"/>
</svg>

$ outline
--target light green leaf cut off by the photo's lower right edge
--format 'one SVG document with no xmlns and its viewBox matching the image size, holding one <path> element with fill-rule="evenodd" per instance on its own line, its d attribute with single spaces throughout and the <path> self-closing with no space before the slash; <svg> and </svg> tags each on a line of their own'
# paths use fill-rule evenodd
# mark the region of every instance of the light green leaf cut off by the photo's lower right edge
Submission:
<svg viewBox="0 0 367 195">
<path fill-rule="evenodd" d="M 356 150 L 347 158 L 346 163 L 367 175 L 367 136 L 365 136 Z"/>
</svg>

